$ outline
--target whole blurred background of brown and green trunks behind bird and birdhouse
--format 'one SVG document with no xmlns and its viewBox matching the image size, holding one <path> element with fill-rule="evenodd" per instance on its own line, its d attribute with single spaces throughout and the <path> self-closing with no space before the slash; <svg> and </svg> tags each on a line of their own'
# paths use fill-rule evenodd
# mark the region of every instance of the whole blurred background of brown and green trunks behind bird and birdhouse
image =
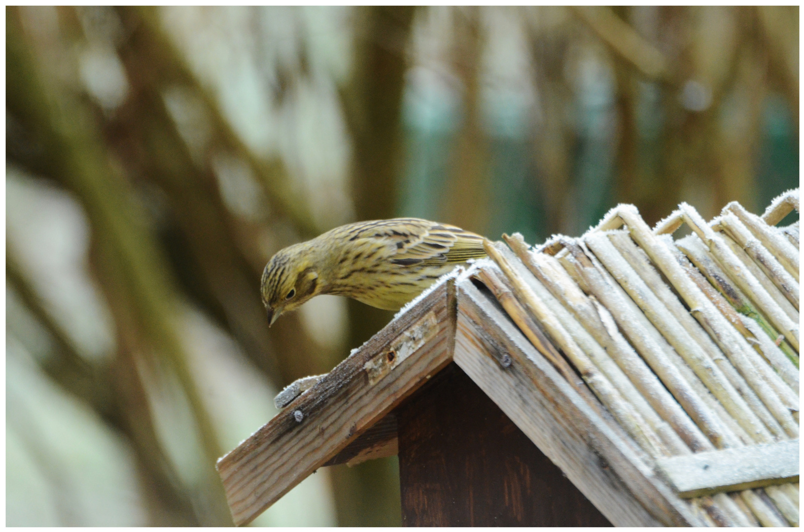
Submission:
<svg viewBox="0 0 804 532">
<path fill-rule="evenodd" d="M 269 329 L 291 243 L 794 186 L 794 6 L 7 7 L 6 525 L 231 523 L 215 460 L 389 319 L 324 296 Z M 254 524 L 400 525 L 396 459 Z"/>
</svg>

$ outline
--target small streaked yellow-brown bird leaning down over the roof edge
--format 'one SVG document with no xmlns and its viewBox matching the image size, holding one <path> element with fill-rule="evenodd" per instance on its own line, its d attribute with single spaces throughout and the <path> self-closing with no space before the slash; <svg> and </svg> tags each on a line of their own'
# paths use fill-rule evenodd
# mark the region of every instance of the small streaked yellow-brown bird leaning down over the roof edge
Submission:
<svg viewBox="0 0 804 532">
<path fill-rule="evenodd" d="M 325 293 L 399 310 L 457 264 L 484 256 L 482 236 L 446 223 L 349 223 L 271 257 L 262 301 L 272 325 L 281 313 Z"/>
</svg>

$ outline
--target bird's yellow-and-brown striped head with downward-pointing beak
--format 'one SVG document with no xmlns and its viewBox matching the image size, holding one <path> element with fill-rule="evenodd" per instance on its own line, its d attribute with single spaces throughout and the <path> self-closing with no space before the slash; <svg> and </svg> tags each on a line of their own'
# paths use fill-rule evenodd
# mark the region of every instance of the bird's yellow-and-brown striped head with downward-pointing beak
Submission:
<svg viewBox="0 0 804 532">
<path fill-rule="evenodd" d="M 321 293 L 318 268 L 307 243 L 298 243 L 271 257 L 262 273 L 260 293 L 270 325 L 281 313 L 296 309 Z"/>
</svg>

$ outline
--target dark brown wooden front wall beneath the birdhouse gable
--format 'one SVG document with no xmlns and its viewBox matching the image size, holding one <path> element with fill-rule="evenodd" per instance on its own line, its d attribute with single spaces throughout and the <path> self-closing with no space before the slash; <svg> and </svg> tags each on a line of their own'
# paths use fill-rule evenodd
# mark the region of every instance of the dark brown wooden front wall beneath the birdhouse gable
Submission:
<svg viewBox="0 0 804 532">
<path fill-rule="evenodd" d="M 405 526 L 611 526 L 454 362 L 396 414 Z"/>
</svg>

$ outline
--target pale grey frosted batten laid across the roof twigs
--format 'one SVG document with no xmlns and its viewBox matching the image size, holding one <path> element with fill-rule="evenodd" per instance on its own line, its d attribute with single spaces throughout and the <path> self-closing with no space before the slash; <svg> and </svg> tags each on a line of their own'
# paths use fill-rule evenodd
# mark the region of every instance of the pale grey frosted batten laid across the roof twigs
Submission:
<svg viewBox="0 0 804 532">
<path fill-rule="evenodd" d="M 798 482 L 798 440 L 659 458 L 656 467 L 680 497 Z"/>
</svg>

